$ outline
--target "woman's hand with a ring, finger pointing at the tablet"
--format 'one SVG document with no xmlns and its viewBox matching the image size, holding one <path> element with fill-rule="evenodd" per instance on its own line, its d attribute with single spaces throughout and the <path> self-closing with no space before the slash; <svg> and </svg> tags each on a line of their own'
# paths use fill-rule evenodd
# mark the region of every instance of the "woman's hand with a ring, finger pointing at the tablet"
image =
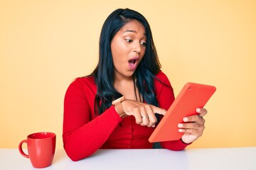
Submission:
<svg viewBox="0 0 256 170">
<path fill-rule="evenodd" d="M 124 113 L 134 115 L 136 123 L 142 126 L 153 127 L 157 121 L 155 113 L 165 115 L 164 108 L 158 108 L 148 103 L 125 99 L 121 103 Z"/>
</svg>

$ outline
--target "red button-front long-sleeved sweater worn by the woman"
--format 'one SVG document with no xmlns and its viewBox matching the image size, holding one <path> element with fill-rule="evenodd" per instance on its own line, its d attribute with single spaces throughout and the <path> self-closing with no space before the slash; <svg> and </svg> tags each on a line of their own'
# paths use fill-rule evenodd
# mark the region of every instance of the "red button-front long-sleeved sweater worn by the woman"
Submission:
<svg viewBox="0 0 256 170">
<path fill-rule="evenodd" d="M 171 86 L 163 72 L 156 75 Z M 168 109 L 174 101 L 173 89 L 154 81 L 159 107 Z M 154 128 L 137 125 L 134 116 L 119 118 L 114 106 L 95 116 L 97 86 L 93 77 L 78 78 L 68 87 L 64 100 L 63 143 L 73 161 L 89 157 L 97 149 L 150 149 L 149 136 Z M 187 145 L 177 141 L 161 142 L 161 147 L 182 150 Z"/>
</svg>

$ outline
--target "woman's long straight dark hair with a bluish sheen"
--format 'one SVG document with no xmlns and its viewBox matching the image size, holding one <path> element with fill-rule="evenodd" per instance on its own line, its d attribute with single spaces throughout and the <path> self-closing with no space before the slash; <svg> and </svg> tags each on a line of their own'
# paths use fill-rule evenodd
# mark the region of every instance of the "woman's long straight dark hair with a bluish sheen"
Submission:
<svg viewBox="0 0 256 170">
<path fill-rule="evenodd" d="M 136 86 L 139 94 L 146 103 L 158 106 L 154 90 L 154 78 L 160 71 L 161 64 L 156 53 L 156 47 L 151 34 L 151 29 L 146 18 L 141 13 L 129 8 L 119 8 L 107 17 L 100 33 L 100 54 L 97 67 L 92 72 L 97 85 L 95 97 L 95 109 L 97 114 L 102 114 L 111 106 L 115 98 L 122 96 L 114 88 L 114 64 L 112 60 L 111 41 L 114 35 L 129 21 L 137 20 L 146 30 L 146 52 L 142 61 L 139 63 L 133 77 L 137 79 Z"/>
</svg>

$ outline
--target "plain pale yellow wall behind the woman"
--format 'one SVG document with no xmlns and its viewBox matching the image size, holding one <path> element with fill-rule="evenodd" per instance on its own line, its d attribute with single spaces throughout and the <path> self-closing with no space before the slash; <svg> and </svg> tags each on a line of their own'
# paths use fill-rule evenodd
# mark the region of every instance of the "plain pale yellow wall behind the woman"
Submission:
<svg viewBox="0 0 256 170">
<path fill-rule="evenodd" d="M 188 81 L 217 87 L 190 148 L 256 146 L 255 1 L 0 0 L 0 147 L 38 131 L 63 147 L 65 91 L 95 68 L 102 23 L 126 7 L 148 19 L 176 95 Z"/>
</svg>

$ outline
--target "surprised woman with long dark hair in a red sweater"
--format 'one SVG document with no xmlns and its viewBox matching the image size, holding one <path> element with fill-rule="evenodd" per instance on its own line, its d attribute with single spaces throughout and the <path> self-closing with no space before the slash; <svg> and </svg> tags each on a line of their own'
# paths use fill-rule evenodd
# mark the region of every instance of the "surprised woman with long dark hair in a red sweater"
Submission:
<svg viewBox="0 0 256 170">
<path fill-rule="evenodd" d="M 174 101 L 156 53 L 149 23 L 137 11 L 117 9 L 102 26 L 100 59 L 91 75 L 75 79 L 64 101 L 63 143 L 70 159 L 97 149 L 152 148 L 154 127 Z M 182 150 L 203 133 L 203 115 L 178 124 L 181 140 L 161 147 Z"/>
</svg>

